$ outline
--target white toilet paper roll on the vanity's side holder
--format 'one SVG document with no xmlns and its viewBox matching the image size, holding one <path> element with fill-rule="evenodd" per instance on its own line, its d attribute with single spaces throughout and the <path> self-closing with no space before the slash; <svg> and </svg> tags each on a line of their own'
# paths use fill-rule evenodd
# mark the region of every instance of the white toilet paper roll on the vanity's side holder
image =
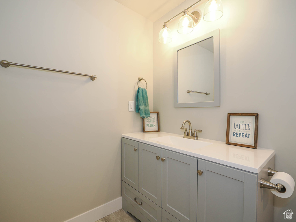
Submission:
<svg viewBox="0 0 296 222">
<path fill-rule="evenodd" d="M 271 190 L 274 195 L 281 198 L 291 197 L 294 191 L 295 181 L 290 174 L 277 172 L 274 174 L 274 176 L 271 177 L 270 182 L 273 184 L 282 184 L 286 188 L 286 192 L 284 193 L 281 193 L 284 191 L 284 189 L 282 189 L 280 192 L 277 192 L 276 190 Z"/>
</svg>

